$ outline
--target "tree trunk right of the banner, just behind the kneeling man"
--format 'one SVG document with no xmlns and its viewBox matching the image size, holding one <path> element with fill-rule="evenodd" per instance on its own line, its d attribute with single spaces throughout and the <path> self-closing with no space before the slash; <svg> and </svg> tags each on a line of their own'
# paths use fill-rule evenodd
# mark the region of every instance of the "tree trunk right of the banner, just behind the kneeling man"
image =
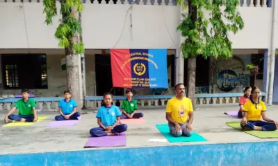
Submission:
<svg viewBox="0 0 278 166">
<path fill-rule="evenodd" d="M 195 101 L 195 75 L 196 75 L 196 57 L 190 56 L 188 57 L 188 66 L 187 66 L 187 91 L 186 95 L 193 104 L 193 109 L 196 109 L 196 101 Z"/>
</svg>

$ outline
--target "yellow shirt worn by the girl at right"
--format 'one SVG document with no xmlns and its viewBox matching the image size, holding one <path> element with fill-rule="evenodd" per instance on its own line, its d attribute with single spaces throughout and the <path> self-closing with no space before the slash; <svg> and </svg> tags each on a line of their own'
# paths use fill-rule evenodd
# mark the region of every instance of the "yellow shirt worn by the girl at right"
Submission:
<svg viewBox="0 0 278 166">
<path fill-rule="evenodd" d="M 260 100 L 258 104 L 251 100 L 245 102 L 243 111 L 247 112 L 247 120 L 261 120 L 261 112 L 266 111 L 265 103 Z"/>
</svg>

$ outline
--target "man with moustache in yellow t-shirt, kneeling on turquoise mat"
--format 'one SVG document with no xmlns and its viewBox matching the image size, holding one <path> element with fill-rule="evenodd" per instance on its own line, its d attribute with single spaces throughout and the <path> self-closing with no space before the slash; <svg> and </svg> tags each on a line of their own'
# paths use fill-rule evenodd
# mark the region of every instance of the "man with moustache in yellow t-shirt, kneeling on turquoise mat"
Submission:
<svg viewBox="0 0 278 166">
<path fill-rule="evenodd" d="M 193 106 L 189 98 L 184 97 L 183 84 L 174 86 L 176 96 L 166 105 L 166 119 L 172 136 L 191 136 L 193 133 Z M 188 118 L 189 117 L 189 118 Z"/>
</svg>

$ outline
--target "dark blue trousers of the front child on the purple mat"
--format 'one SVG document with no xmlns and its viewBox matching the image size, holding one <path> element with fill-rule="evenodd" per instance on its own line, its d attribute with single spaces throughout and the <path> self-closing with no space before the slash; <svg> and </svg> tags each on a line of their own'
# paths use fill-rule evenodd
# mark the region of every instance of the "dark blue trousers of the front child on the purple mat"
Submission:
<svg viewBox="0 0 278 166">
<path fill-rule="evenodd" d="M 111 133 L 122 133 L 126 131 L 127 125 L 126 124 L 119 124 L 114 129 L 111 130 Z M 90 129 L 90 135 L 93 137 L 101 137 L 101 136 L 107 136 L 107 133 L 102 127 L 95 127 Z"/>
</svg>

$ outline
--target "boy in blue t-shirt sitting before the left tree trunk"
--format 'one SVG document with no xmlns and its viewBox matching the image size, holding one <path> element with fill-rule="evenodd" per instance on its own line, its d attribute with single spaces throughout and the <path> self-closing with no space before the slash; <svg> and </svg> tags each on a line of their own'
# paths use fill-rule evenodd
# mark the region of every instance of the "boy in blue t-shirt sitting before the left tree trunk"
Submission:
<svg viewBox="0 0 278 166">
<path fill-rule="evenodd" d="M 60 116 L 56 116 L 55 120 L 78 120 L 80 113 L 76 110 L 77 104 L 70 91 L 64 91 L 64 96 L 65 99 L 58 104 Z"/>
</svg>

